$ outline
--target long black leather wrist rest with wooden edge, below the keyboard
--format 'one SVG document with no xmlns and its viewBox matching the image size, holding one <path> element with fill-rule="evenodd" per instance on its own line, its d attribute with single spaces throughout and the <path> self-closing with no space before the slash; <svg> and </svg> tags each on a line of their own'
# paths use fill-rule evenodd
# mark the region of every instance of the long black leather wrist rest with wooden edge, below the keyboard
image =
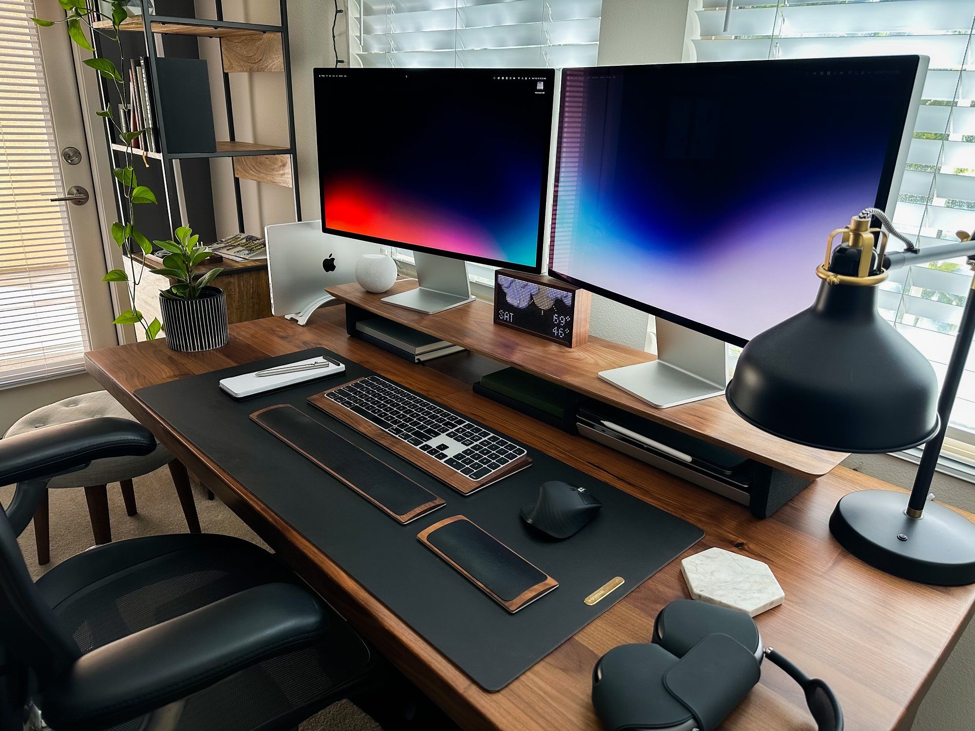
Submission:
<svg viewBox="0 0 975 731">
<path fill-rule="evenodd" d="M 262 408 L 251 418 L 401 523 L 447 504 L 292 405 Z"/>
</svg>

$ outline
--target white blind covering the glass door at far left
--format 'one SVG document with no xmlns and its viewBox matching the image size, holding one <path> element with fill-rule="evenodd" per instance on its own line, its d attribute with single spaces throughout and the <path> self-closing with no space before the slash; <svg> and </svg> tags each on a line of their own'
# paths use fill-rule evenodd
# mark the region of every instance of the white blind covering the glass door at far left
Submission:
<svg viewBox="0 0 975 731">
<path fill-rule="evenodd" d="M 0 0 L 0 388 L 83 367 L 88 331 L 30 0 Z"/>
</svg>

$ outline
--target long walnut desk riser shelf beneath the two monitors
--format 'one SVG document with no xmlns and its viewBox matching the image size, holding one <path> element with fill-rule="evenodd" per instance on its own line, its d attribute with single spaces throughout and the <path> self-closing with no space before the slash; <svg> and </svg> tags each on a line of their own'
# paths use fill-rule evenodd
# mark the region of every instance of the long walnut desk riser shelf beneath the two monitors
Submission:
<svg viewBox="0 0 975 731">
<path fill-rule="evenodd" d="M 382 301 L 389 294 L 415 287 L 415 282 L 398 282 L 388 292 L 373 294 L 353 283 L 330 287 L 326 291 L 389 320 L 506 365 L 514 365 L 590 398 L 625 408 L 643 418 L 794 475 L 809 479 L 820 477 L 846 457 L 839 452 L 800 446 L 765 434 L 734 413 L 723 396 L 671 408 L 654 408 L 597 375 L 601 370 L 655 360 L 649 353 L 599 337 L 590 337 L 584 345 L 566 348 L 509 327 L 498 327 L 492 322 L 491 306 L 480 300 L 436 315 L 425 315 Z"/>
</svg>

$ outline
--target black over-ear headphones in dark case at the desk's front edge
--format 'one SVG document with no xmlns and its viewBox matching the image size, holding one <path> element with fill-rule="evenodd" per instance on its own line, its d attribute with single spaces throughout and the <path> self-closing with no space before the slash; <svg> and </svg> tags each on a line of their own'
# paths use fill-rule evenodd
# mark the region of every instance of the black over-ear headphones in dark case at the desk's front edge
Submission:
<svg viewBox="0 0 975 731">
<path fill-rule="evenodd" d="M 606 731 L 713 731 L 759 682 L 761 660 L 805 692 L 819 731 L 842 731 L 830 686 L 762 648 L 745 612 L 679 599 L 660 610 L 652 644 L 609 650 L 593 670 L 593 706 Z"/>
</svg>

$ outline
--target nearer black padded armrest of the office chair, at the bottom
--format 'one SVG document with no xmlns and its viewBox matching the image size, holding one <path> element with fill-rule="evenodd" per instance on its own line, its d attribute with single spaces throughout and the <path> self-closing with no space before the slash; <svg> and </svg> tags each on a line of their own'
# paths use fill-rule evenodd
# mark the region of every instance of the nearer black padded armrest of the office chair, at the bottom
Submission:
<svg viewBox="0 0 975 731">
<path fill-rule="evenodd" d="M 53 728 L 114 726 L 320 638 L 330 616 L 299 586 L 254 587 L 83 655 L 41 710 Z"/>
</svg>

